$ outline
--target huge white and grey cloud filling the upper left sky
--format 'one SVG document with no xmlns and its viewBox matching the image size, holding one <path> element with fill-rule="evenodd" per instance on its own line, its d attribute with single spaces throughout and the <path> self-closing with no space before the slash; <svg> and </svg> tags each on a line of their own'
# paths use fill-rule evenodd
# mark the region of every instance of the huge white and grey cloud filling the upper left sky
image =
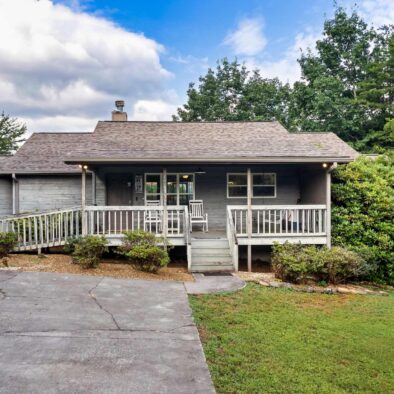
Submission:
<svg viewBox="0 0 394 394">
<path fill-rule="evenodd" d="M 30 130 L 63 129 L 60 121 L 81 130 L 109 117 L 117 98 L 157 100 L 172 76 L 162 45 L 69 4 L 0 0 L 0 111 Z"/>
</svg>

